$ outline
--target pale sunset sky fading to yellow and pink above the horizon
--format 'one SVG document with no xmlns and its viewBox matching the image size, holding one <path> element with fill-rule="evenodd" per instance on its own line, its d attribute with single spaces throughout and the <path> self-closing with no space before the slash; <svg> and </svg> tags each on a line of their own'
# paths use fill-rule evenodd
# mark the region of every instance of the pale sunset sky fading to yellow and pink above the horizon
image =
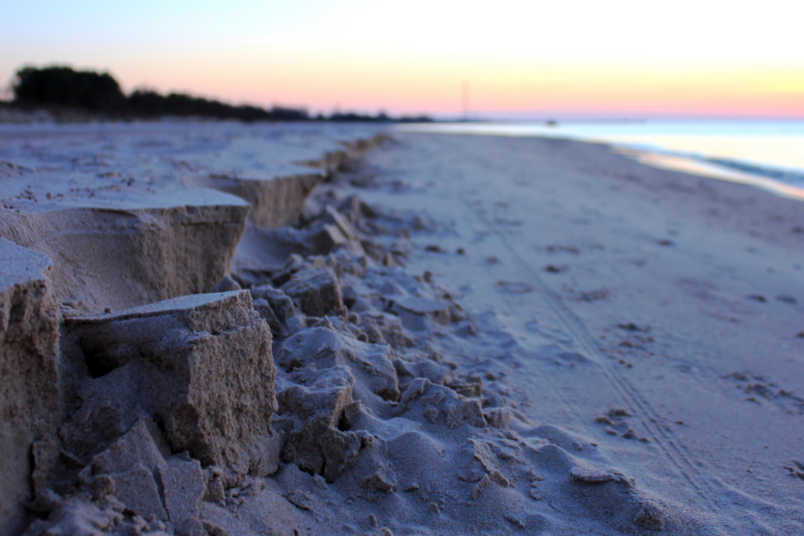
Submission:
<svg viewBox="0 0 804 536">
<path fill-rule="evenodd" d="M 804 118 L 804 2 L 0 0 L 0 84 L 108 71 L 232 103 L 460 117 Z"/>
</svg>

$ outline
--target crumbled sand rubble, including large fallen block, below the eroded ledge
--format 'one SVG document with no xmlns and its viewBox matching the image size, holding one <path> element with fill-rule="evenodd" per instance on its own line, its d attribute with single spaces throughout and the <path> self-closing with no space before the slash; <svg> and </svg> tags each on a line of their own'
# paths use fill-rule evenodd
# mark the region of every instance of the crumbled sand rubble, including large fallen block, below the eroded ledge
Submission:
<svg viewBox="0 0 804 536">
<path fill-rule="evenodd" d="M 300 226 L 243 223 L 219 292 L 69 313 L 25 534 L 685 534 L 519 411 L 521 349 L 408 272 L 428 224 L 344 194 L 351 166 Z"/>
</svg>

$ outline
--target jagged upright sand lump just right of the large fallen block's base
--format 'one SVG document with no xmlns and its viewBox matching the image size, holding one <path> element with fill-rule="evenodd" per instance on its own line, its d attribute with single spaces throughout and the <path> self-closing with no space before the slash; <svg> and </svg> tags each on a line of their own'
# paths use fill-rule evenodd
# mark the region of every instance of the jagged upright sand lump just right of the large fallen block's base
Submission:
<svg viewBox="0 0 804 536">
<path fill-rule="evenodd" d="M 354 386 L 349 367 L 333 366 L 310 386 L 293 385 L 277 395 L 280 411 L 292 415 L 293 421 L 282 451 L 285 463 L 295 463 L 330 482 L 354 464 L 362 436 L 338 430 Z"/>
</svg>

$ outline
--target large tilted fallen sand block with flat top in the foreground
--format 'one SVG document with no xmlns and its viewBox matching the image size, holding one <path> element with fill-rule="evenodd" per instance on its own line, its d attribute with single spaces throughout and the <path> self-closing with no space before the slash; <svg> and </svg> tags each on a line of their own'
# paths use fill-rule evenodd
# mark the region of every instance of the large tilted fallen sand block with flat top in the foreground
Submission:
<svg viewBox="0 0 804 536">
<path fill-rule="evenodd" d="M 80 407 L 64 433 L 73 452 L 143 415 L 174 452 L 260 472 L 276 406 L 271 333 L 248 291 L 200 294 L 65 321 Z M 109 431 L 109 432 L 106 432 Z"/>
</svg>

